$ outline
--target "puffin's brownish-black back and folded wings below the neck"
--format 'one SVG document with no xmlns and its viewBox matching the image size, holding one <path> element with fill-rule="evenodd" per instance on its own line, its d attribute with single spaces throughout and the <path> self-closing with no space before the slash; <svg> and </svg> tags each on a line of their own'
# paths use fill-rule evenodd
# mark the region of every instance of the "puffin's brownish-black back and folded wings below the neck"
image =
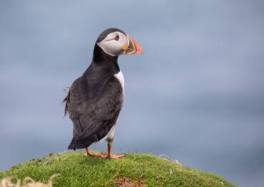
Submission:
<svg viewBox="0 0 264 187">
<path fill-rule="evenodd" d="M 67 97 L 66 106 L 73 121 L 73 140 L 68 149 L 86 148 L 105 137 L 123 105 L 122 87 L 113 76 L 96 85 L 79 78 Z"/>
</svg>

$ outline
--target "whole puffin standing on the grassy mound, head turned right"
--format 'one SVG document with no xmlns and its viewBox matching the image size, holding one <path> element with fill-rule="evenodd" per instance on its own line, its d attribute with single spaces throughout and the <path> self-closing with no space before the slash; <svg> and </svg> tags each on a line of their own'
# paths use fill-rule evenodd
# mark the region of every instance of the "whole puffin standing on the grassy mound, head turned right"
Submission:
<svg viewBox="0 0 264 187">
<path fill-rule="evenodd" d="M 112 144 L 116 121 L 123 106 L 124 78 L 118 65 L 119 55 L 141 54 L 141 46 L 118 28 L 108 28 L 97 38 L 91 64 L 69 87 L 64 98 L 64 115 L 73 122 L 73 138 L 68 149 L 86 149 L 86 156 L 118 159 Z M 91 144 L 107 141 L 108 153 L 88 149 Z"/>
</svg>

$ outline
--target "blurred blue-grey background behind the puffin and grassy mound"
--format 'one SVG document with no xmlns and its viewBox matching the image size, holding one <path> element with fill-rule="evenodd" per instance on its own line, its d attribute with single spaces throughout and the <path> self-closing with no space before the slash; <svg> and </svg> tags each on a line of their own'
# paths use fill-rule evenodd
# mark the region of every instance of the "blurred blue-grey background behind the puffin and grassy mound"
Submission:
<svg viewBox="0 0 264 187">
<path fill-rule="evenodd" d="M 99 33 L 143 55 L 126 80 L 115 151 L 166 154 L 239 186 L 264 183 L 263 1 L 0 1 L 0 170 L 66 150 L 64 86 Z M 93 149 L 106 150 L 106 144 Z"/>
</svg>

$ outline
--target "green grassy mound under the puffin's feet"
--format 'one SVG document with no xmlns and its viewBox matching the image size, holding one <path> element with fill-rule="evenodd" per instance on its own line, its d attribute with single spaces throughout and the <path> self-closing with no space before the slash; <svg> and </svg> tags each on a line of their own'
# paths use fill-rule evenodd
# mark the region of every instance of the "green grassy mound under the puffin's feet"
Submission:
<svg viewBox="0 0 264 187">
<path fill-rule="evenodd" d="M 83 151 L 50 154 L 32 159 L 0 173 L 23 181 L 48 183 L 55 173 L 53 186 L 233 186 L 210 173 L 188 169 L 173 161 L 151 154 L 126 154 L 122 159 L 87 157 Z"/>
</svg>

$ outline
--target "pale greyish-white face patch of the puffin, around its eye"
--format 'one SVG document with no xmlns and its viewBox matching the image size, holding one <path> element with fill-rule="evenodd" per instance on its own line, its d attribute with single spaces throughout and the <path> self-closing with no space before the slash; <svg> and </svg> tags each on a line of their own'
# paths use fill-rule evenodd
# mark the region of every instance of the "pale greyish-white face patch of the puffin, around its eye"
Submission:
<svg viewBox="0 0 264 187">
<path fill-rule="evenodd" d="M 115 38 L 118 37 L 118 40 Z M 121 54 L 123 46 L 128 43 L 126 35 L 121 32 L 109 33 L 103 41 L 96 43 L 106 54 L 117 56 Z"/>
</svg>

